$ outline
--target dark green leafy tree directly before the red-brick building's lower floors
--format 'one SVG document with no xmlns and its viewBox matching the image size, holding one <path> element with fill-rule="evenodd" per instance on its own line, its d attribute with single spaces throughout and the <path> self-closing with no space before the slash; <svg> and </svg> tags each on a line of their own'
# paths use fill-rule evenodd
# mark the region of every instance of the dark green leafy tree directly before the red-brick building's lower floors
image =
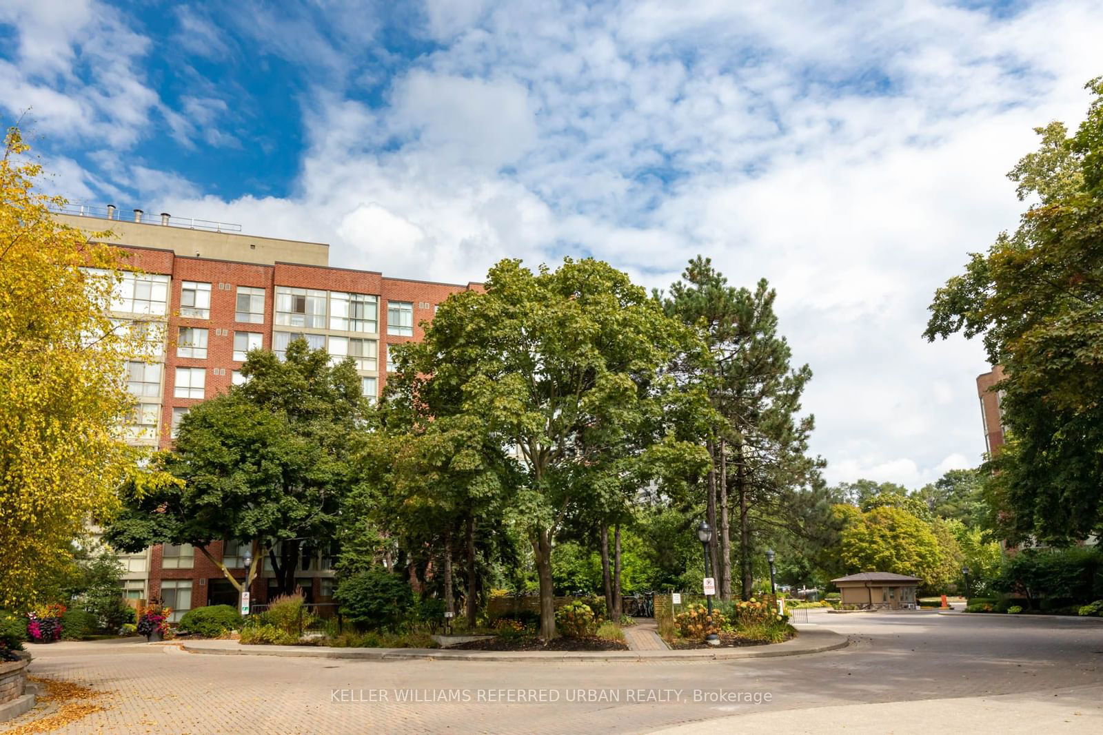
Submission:
<svg viewBox="0 0 1103 735">
<path fill-rule="evenodd" d="M 366 404 L 352 361 L 331 366 L 324 350 L 311 352 L 303 339 L 288 346 L 285 360 L 250 352 L 242 374 L 244 385 L 184 417 L 175 446 L 160 457 L 183 486 L 127 488 L 105 539 L 122 551 L 190 543 L 239 591 L 243 584 L 207 547 L 251 541 L 244 588 L 267 555 L 287 594 L 302 548 L 321 549 L 334 536 Z"/>
</svg>

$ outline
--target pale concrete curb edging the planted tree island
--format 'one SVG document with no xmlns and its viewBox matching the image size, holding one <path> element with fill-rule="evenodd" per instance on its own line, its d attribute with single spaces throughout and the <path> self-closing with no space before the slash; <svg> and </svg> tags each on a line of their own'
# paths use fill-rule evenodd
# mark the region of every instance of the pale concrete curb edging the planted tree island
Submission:
<svg viewBox="0 0 1103 735">
<path fill-rule="evenodd" d="M 832 630 L 802 630 L 783 644 L 749 648 L 688 651 L 453 651 L 447 648 L 330 648 L 325 646 L 243 646 L 236 640 L 194 640 L 171 646 L 207 656 L 283 656 L 290 658 L 356 659 L 364 661 L 714 661 L 804 656 L 845 648 L 846 636 Z"/>
</svg>

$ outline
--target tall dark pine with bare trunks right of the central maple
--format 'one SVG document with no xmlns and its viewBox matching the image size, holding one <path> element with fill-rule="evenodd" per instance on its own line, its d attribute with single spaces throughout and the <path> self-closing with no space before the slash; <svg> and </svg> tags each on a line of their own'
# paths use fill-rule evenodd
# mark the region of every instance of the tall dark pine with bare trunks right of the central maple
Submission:
<svg viewBox="0 0 1103 735">
<path fill-rule="evenodd" d="M 713 458 L 706 486 L 706 517 L 718 530 L 714 547 L 720 597 L 731 597 L 729 487 L 739 529 L 740 586 L 752 594 L 756 526 L 795 521 L 779 500 L 810 486 L 823 462 L 807 456 L 811 415 L 800 417 L 801 396 L 812 377 L 807 365 L 790 366 L 792 350 L 778 334 L 777 293 L 763 279 L 754 290 L 736 289 L 708 258 L 689 261 L 683 280 L 671 285 L 667 314 L 702 331 L 708 354 L 688 353 L 678 369 L 699 380 L 715 409 L 705 441 Z M 699 377 L 698 377 L 699 376 Z M 758 531 L 761 533 L 761 530 Z"/>
</svg>

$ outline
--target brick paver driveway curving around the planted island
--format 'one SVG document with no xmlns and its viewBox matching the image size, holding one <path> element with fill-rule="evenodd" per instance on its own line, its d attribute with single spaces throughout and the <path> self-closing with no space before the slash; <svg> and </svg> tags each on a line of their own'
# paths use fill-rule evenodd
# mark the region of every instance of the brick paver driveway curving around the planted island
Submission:
<svg viewBox="0 0 1103 735">
<path fill-rule="evenodd" d="M 635 733 L 749 712 L 1053 698 L 1073 687 L 1103 698 L 1103 626 L 931 613 L 810 619 L 850 635 L 852 646 L 568 663 L 202 656 L 125 640 L 33 647 L 31 670 L 105 692 L 107 709 L 64 733 Z"/>
</svg>

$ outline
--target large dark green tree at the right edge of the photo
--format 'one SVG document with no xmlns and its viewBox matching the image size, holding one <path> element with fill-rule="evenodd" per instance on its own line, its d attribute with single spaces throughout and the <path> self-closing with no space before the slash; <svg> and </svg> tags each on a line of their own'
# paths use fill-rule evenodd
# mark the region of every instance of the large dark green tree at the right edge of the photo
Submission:
<svg viewBox="0 0 1103 735">
<path fill-rule="evenodd" d="M 986 464 L 1010 540 L 1084 538 L 1103 523 L 1103 77 L 1077 133 L 1039 128 L 1009 177 L 1036 196 L 1018 229 L 938 290 L 924 336 L 982 336 L 1004 366 L 1013 451 Z"/>
</svg>

